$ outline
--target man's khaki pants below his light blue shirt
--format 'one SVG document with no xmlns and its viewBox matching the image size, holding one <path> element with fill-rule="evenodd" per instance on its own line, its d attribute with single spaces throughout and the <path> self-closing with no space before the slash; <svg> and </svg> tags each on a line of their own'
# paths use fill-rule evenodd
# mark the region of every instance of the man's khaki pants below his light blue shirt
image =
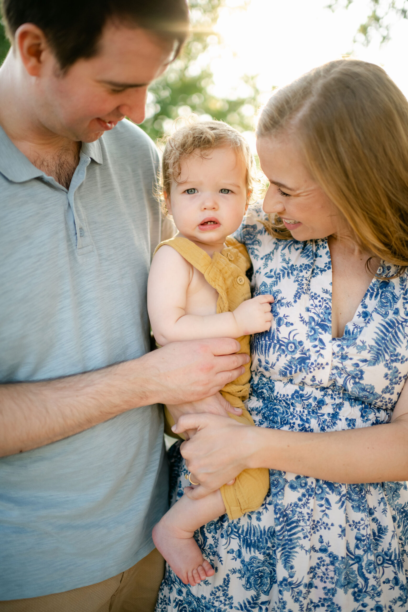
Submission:
<svg viewBox="0 0 408 612">
<path fill-rule="evenodd" d="M 165 560 L 155 548 L 130 569 L 80 589 L 0 602 L 0 612 L 154 612 Z"/>
</svg>

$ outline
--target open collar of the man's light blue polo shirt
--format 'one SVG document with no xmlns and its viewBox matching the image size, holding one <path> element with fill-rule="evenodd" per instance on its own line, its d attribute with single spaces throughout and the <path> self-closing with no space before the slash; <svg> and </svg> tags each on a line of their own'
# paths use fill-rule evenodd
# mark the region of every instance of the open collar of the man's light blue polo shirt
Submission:
<svg viewBox="0 0 408 612">
<path fill-rule="evenodd" d="M 102 151 L 98 140 L 94 143 L 82 143 L 81 151 L 95 162 L 102 163 Z M 23 183 L 39 176 L 46 176 L 42 170 L 35 168 L 20 149 L 17 149 L 1 126 L 0 173 L 14 183 Z"/>
</svg>

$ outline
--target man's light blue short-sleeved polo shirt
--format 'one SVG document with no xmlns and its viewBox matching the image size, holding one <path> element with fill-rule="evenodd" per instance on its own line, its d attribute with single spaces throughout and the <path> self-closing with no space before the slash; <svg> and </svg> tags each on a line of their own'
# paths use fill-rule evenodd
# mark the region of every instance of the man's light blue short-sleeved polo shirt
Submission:
<svg viewBox="0 0 408 612">
<path fill-rule="evenodd" d="M 67 192 L 0 129 L 0 383 L 149 351 L 157 165 L 148 136 L 121 121 L 83 144 Z M 67 591 L 132 567 L 154 548 L 167 490 L 157 405 L 1 458 L 0 600 Z"/>
</svg>

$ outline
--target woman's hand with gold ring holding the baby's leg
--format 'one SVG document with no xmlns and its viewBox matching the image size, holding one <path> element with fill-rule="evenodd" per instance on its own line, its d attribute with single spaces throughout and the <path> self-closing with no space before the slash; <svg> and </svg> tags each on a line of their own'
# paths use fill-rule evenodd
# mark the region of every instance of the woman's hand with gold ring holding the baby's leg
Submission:
<svg viewBox="0 0 408 612">
<path fill-rule="evenodd" d="M 259 428 L 215 414 L 185 414 L 172 430 L 174 433 L 197 430 L 182 443 L 180 452 L 192 474 L 191 480 L 201 485 L 189 491 L 188 497 L 199 499 L 249 467 Z"/>
</svg>

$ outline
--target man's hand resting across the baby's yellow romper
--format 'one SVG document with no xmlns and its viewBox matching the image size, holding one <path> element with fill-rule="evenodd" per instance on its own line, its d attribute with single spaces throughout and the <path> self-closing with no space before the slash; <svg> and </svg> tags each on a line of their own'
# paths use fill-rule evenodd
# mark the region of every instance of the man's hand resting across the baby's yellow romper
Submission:
<svg viewBox="0 0 408 612">
<path fill-rule="evenodd" d="M 236 354 L 239 349 L 237 340 L 217 338 L 172 342 L 148 353 L 140 359 L 146 371 L 144 403 L 169 406 L 216 394 L 244 373 L 250 357 Z"/>
</svg>

